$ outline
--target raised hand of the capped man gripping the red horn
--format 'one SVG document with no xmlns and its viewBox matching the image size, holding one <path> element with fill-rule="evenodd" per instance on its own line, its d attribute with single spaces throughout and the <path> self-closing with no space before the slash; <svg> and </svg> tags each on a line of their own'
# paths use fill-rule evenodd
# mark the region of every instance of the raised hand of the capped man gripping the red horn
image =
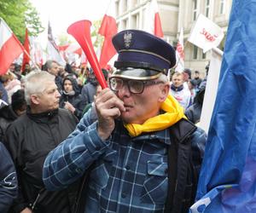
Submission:
<svg viewBox="0 0 256 213">
<path fill-rule="evenodd" d="M 124 102 L 107 88 L 96 96 L 95 106 L 99 122 L 97 131 L 105 141 L 114 129 L 114 118 L 118 118 L 121 112 L 125 112 Z"/>
</svg>

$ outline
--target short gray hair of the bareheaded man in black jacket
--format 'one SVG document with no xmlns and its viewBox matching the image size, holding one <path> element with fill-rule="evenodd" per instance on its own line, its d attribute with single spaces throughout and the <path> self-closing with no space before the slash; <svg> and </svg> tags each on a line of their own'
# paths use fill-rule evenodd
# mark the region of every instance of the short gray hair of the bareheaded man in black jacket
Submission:
<svg viewBox="0 0 256 213">
<path fill-rule="evenodd" d="M 46 82 L 55 82 L 55 76 L 49 72 L 30 72 L 25 78 L 25 99 L 28 105 L 31 104 L 31 95 L 43 93 L 46 89 Z"/>
</svg>

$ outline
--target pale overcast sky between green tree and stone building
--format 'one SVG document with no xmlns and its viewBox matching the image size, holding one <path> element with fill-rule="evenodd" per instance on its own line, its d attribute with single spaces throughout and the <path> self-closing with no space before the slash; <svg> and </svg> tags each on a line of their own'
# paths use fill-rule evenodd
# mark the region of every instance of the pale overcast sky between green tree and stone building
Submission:
<svg viewBox="0 0 256 213">
<path fill-rule="evenodd" d="M 100 20 L 106 13 L 109 0 L 30 0 L 38 10 L 47 32 L 48 20 L 54 36 L 67 32 L 77 20 Z M 41 35 L 42 36 L 42 35 Z"/>
</svg>

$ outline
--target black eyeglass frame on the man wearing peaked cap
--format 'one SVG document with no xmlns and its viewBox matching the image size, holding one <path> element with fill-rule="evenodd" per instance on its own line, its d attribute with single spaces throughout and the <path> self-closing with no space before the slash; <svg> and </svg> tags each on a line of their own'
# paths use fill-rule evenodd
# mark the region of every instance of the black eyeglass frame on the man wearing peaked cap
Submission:
<svg viewBox="0 0 256 213">
<path fill-rule="evenodd" d="M 135 80 L 135 79 L 126 79 L 126 78 L 119 78 L 119 77 L 110 77 L 110 78 L 108 78 L 108 81 L 109 81 L 109 87 L 110 87 L 110 89 L 111 90 L 113 90 L 114 92 L 118 92 L 119 91 L 119 89 L 113 89 L 112 88 L 112 85 L 111 85 L 111 79 L 114 79 L 114 78 L 118 78 L 118 79 L 120 79 L 120 80 L 122 80 L 122 87 L 124 86 L 124 83 L 126 83 L 127 84 L 127 87 L 128 87 L 128 89 L 129 89 L 129 92 L 131 93 L 131 94 L 142 94 L 143 93 L 143 91 L 144 91 L 144 89 L 145 89 L 145 86 L 150 86 L 150 85 L 154 85 L 154 84 L 159 84 L 159 83 L 164 83 L 164 82 L 162 82 L 162 81 L 153 81 L 153 80 Z M 142 91 L 141 92 L 137 92 L 137 93 L 135 93 L 135 92 L 132 92 L 131 91 L 131 85 L 130 85 L 130 83 L 129 82 L 134 82 L 134 81 L 137 81 L 137 82 L 142 82 L 143 83 L 143 89 L 142 89 Z M 121 88 L 122 88 L 121 87 Z"/>
</svg>

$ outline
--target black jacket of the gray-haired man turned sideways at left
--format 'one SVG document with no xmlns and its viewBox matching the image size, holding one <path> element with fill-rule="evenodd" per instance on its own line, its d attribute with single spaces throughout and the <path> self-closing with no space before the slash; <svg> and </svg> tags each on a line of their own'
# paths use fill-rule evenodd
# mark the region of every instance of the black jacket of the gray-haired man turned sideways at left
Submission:
<svg viewBox="0 0 256 213">
<path fill-rule="evenodd" d="M 32 114 L 28 108 L 26 114 L 9 126 L 6 145 L 15 162 L 20 188 L 14 212 L 32 207 L 37 198 L 33 212 L 71 212 L 72 190 L 77 189 L 71 186 L 58 192 L 47 191 L 42 181 L 42 170 L 44 158 L 67 138 L 77 122 L 77 118 L 63 109 Z"/>
</svg>

